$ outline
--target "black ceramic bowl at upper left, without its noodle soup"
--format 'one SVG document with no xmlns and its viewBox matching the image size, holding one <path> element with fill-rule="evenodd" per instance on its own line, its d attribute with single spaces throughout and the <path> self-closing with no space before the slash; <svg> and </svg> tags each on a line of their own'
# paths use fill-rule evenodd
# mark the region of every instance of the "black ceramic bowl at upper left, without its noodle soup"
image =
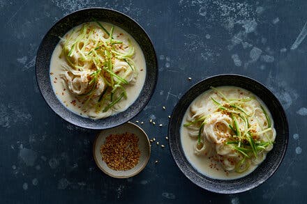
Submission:
<svg viewBox="0 0 307 204">
<path fill-rule="evenodd" d="M 59 36 L 65 35 L 70 29 L 73 29 L 73 27 L 84 22 L 93 21 L 93 19 L 102 22 L 110 22 L 133 36 L 144 53 L 147 66 L 145 83 L 139 97 L 137 97 L 137 100 L 135 100 L 126 111 L 100 120 L 84 118 L 66 109 L 54 94 L 50 81 L 50 59 L 54 48 L 60 40 Z M 142 111 L 146 106 L 147 102 L 149 102 L 156 87 L 157 77 L 158 67 L 156 52 L 147 33 L 139 24 L 137 24 L 137 22 L 127 15 L 107 8 L 87 8 L 84 10 L 78 10 L 60 19 L 59 22 L 52 26 L 50 31 L 48 31 L 43 38 L 36 56 L 36 79 L 38 81 L 40 92 L 47 104 L 64 120 L 67 120 L 73 125 L 89 129 L 107 129 L 115 127 L 126 123 L 128 120 L 136 116 L 137 113 Z"/>
</svg>

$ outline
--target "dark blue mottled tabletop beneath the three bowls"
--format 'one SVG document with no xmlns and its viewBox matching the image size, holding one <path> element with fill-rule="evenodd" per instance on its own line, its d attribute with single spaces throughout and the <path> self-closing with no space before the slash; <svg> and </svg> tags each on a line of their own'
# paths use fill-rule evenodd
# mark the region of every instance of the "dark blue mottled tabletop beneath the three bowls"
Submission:
<svg viewBox="0 0 307 204">
<path fill-rule="evenodd" d="M 59 118 L 36 84 L 36 52 L 45 33 L 64 15 L 94 6 L 137 20 L 158 56 L 156 92 L 132 122 L 144 121 L 141 127 L 165 148 L 152 146 L 149 164 L 133 178 L 102 173 L 92 157 L 97 131 Z M 306 203 L 306 10 L 305 0 L 0 0 L 1 203 Z M 265 84 L 283 104 L 290 125 L 278 171 L 242 194 L 218 195 L 193 185 L 165 139 L 167 116 L 181 95 L 221 73 Z"/>
</svg>

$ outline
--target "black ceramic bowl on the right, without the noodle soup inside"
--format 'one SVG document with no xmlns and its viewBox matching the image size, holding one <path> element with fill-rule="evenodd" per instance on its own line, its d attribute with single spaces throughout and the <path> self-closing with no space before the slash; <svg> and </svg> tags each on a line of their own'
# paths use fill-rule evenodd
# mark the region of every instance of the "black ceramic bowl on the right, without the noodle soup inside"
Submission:
<svg viewBox="0 0 307 204">
<path fill-rule="evenodd" d="M 267 158 L 264 159 L 264 162 L 262 162 L 255 171 L 243 178 L 234 180 L 216 180 L 209 178 L 193 168 L 186 159 L 184 150 L 181 148 L 180 127 L 181 121 L 184 118 L 184 113 L 188 109 L 190 103 L 193 102 L 197 96 L 204 93 L 204 91 L 209 90 L 210 86 L 238 86 L 251 91 L 260 97 L 267 105 L 274 119 L 274 127 L 276 129 L 274 148 L 268 152 Z M 220 194 L 236 194 L 248 191 L 261 185 L 270 178 L 283 160 L 287 149 L 288 134 L 289 131 L 285 112 L 274 94 L 259 82 L 236 74 L 222 74 L 210 77 L 191 87 L 186 94 L 181 97 L 177 106 L 174 108 L 168 127 L 170 150 L 180 170 L 189 180 L 195 183 L 195 185 Z"/>
</svg>

